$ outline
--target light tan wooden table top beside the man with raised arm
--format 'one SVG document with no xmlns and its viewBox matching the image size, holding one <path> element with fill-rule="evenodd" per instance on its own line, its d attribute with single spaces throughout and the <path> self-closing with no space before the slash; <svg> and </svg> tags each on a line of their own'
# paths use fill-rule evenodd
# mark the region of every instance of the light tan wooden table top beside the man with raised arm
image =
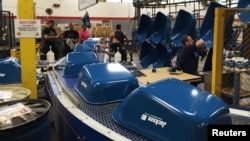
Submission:
<svg viewBox="0 0 250 141">
<path fill-rule="evenodd" d="M 156 72 L 152 72 L 152 69 L 144 69 L 140 70 L 142 73 L 144 73 L 146 76 L 139 76 L 137 77 L 140 84 L 147 84 L 156 82 L 162 79 L 166 78 L 176 78 L 182 81 L 201 81 L 202 77 L 197 75 L 191 75 L 188 73 L 170 73 L 169 68 L 157 68 Z"/>
</svg>

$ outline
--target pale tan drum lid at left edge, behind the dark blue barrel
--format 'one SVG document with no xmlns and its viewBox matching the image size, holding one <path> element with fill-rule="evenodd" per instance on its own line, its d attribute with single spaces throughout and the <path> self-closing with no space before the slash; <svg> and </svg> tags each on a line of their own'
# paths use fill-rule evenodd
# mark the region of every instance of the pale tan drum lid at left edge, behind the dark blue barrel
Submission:
<svg viewBox="0 0 250 141">
<path fill-rule="evenodd" d="M 0 86 L 0 103 L 28 98 L 29 89 L 18 86 Z"/>
</svg>

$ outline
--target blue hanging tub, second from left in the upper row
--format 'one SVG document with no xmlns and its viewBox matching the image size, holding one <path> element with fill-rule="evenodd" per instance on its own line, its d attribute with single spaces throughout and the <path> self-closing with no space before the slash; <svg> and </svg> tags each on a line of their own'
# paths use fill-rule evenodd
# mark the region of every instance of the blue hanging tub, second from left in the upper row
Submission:
<svg viewBox="0 0 250 141">
<path fill-rule="evenodd" d="M 158 12 L 152 28 L 151 40 L 158 44 L 162 41 L 170 41 L 171 20 L 168 16 Z"/>
</svg>

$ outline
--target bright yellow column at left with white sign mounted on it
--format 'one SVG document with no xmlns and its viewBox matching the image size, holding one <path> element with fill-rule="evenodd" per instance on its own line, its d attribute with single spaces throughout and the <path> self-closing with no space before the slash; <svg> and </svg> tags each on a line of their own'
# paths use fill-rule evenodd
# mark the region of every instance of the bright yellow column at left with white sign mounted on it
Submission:
<svg viewBox="0 0 250 141">
<path fill-rule="evenodd" d="M 18 19 L 34 19 L 33 0 L 18 0 Z M 22 87 L 31 90 L 31 99 L 37 98 L 35 38 L 20 38 Z"/>
</svg>

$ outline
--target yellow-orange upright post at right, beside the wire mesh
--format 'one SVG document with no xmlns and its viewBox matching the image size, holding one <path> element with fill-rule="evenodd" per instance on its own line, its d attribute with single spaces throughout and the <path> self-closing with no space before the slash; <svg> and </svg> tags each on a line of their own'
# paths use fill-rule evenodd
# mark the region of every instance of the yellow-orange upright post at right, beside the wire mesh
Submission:
<svg viewBox="0 0 250 141">
<path fill-rule="evenodd" d="M 215 9 L 211 93 L 221 96 L 225 8 Z"/>
</svg>

